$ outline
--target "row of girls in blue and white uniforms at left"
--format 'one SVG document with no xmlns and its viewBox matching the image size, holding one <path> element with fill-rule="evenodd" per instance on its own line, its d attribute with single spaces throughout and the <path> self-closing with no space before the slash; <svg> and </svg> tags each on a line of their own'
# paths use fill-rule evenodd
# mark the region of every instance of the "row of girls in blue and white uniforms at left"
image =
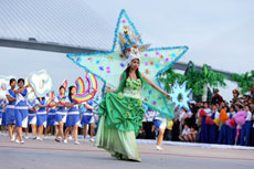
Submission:
<svg viewBox="0 0 254 169">
<path fill-rule="evenodd" d="M 24 80 L 18 80 L 18 89 L 15 88 L 17 81 L 10 80 L 11 88 L 8 89 L 7 99 L 0 99 L 0 124 L 2 134 L 9 131 L 11 141 L 24 144 L 22 138 L 22 128 L 25 129 L 25 138 L 28 138 L 29 125 L 32 128 L 32 139 L 42 140 L 43 130 L 45 128 L 45 136 L 51 128 L 55 128 L 55 141 L 67 142 L 70 131 L 74 136 L 74 144 L 77 141 L 78 126 L 84 128 L 84 137 L 87 136 L 87 125 L 91 126 L 91 141 L 94 141 L 93 134 L 95 128 L 95 112 L 93 107 L 93 99 L 78 104 L 72 98 L 76 93 L 76 87 L 68 87 L 68 96 L 65 96 L 65 87 L 60 86 L 59 95 L 46 98 L 36 97 L 33 102 L 28 99 L 28 87 L 24 86 Z M 54 99 L 54 106 L 50 105 L 49 99 Z M 84 108 L 84 107 L 85 108 Z M 65 131 L 63 130 L 65 128 Z M 17 136 L 14 137 L 14 131 Z"/>
</svg>

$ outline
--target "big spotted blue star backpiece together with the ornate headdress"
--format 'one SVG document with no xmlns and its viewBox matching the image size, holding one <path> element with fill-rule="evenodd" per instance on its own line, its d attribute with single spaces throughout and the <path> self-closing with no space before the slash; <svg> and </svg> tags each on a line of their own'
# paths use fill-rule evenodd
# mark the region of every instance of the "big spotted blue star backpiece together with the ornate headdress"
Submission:
<svg viewBox="0 0 254 169">
<path fill-rule="evenodd" d="M 129 54 L 126 53 L 133 53 L 134 55 L 139 53 L 139 71 L 161 87 L 159 75 L 172 66 L 187 52 L 188 46 L 148 47 L 148 44 L 142 43 L 137 29 L 125 10 L 121 10 L 112 51 L 68 54 L 67 57 L 102 80 L 104 82 L 104 93 L 106 86 L 118 88 L 119 77 L 130 60 L 127 56 Z M 173 118 L 172 102 L 147 83 L 142 84 L 141 97 L 144 104 L 154 110 L 158 110 L 161 116 Z"/>
</svg>

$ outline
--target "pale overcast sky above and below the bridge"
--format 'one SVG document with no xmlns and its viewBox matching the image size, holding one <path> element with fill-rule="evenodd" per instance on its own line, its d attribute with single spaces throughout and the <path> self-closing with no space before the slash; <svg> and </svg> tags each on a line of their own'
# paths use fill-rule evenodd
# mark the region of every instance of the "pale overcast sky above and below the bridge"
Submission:
<svg viewBox="0 0 254 169">
<path fill-rule="evenodd" d="M 30 3 L 28 0 L 22 1 Z M 3 4 L 3 2 L 0 3 Z M 52 36 L 57 33 L 57 41 L 63 40 L 63 43 L 93 44 L 92 46 L 99 49 L 110 49 L 118 14 L 121 9 L 125 9 L 145 43 L 151 43 L 152 47 L 188 45 L 189 51 L 180 62 L 193 61 L 198 65 L 207 63 L 215 70 L 234 73 L 253 70 L 254 1 L 252 0 L 73 0 L 73 9 L 80 6 L 78 12 L 89 13 L 83 17 L 83 20 L 76 13 L 65 9 L 68 3 L 71 3 L 68 0 L 63 0 L 62 4 L 55 7 L 57 10 L 40 8 L 47 10 L 47 15 L 44 17 L 45 20 L 34 19 L 39 24 L 38 28 L 31 24 L 33 22 L 29 21 L 28 17 L 19 15 L 19 12 L 17 13 L 19 10 L 14 10 L 12 11 L 13 14 L 4 15 L 6 22 L 2 22 L 4 27 L 0 24 L 0 36 L 7 38 L 8 34 L 10 38 L 19 38 L 19 35 L 29 38 L 29 33 L 31 33 L 31 36 L 39 40 L 52 41 L 54 40 Z M 0 9 L 3 7 L 6 10 L 12 8 L 10 4 L 4 2 Z M 61 6 L 64 6 L 62 11 Z M 32 12 L 32 10 L 27 11 Z M 40 11 L 36 13 L 40 15 Z M 29 14 L 31 15 L 31 13 Z M 65 24 L 61 23 L 63 29 L 57 29 L 57 24 L 51 25 L 54 22 L 52 23 L 46 18 L 52 17 L 54 19 L 54 15 L 57 14 L 62 15 L 62 19 L 67 19 L 67 21 L 63 20 Z M 10 24 L 7 20 L 11 21 Z M 27 28 L 27 36 L 24 33 L 22 34 L 24 23 L 31 25 L 31 28 Z M 78 29 L 75 25 L 78 25 Z M 34 31 L 34 29 L 40 28 L 42 29 L 41 32 Z M 15 30 L 21 33 L 18 34 Z M 41 36 L 43 33 L 47 33 L 52 39 Z M 67 40 L 65 41 L 65 39 Z M 55 86 L 59 86 L 65 78 L 72 84 L 77 76 L 84 75 L 84 71 L 68 61 L 66 54 L 63 53 L 0 47 L 0 75 L 25 77 L 30 72 L 46 70 L 52 75 Z M 221 93 L 230 99 L 231 89 L 235 88 L 236 85 L 231 82 L 227 84 L 229 87 L 222 88 Z"/>
</svg>

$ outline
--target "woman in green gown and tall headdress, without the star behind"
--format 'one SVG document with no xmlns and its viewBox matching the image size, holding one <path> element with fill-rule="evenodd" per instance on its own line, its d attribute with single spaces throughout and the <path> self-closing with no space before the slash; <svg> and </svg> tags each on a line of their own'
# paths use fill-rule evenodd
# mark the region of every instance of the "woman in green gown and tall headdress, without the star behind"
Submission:
<svg viewBox="0 0 254 169">
<path fill-rule="evenodd" d="M 129 33 L 126 30 L 120 36 L 129 40 Z M 127 59 L 128 66 L 120 76 L 118 89 L 107 89 L 99 104 L 100 123 L 95 145 L 106 149 L 117 159 L 140 161 L 136 136 L 142 126 L 145 113 L 141 89 L 144 86 L 151 85 L 161 94 L 170 96 L 139 72 L 141 57 L 135 41 L 126 41 L 121 45 L 123 57 Z"/>
</svg>

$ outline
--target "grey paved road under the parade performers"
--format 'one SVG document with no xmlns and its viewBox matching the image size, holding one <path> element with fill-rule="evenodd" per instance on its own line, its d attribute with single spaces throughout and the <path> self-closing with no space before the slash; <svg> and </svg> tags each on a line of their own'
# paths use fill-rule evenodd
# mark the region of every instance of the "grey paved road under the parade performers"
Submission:
<svg viewBox="0 0 254 169">
<path fill-rule="evenodd" d="M 139 144 L 141 162 L 120 161 L 89 141 L 67 145 L 53 140 L 10 142 L 0 136 L 0 169 L 247 169 L 254 167 L 254 150 Z"/>
</svg>

